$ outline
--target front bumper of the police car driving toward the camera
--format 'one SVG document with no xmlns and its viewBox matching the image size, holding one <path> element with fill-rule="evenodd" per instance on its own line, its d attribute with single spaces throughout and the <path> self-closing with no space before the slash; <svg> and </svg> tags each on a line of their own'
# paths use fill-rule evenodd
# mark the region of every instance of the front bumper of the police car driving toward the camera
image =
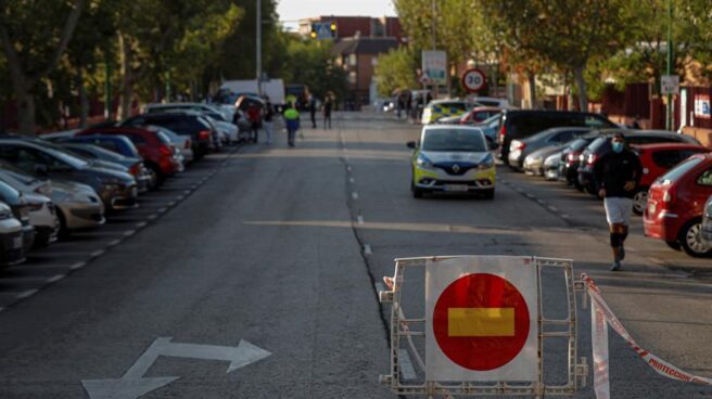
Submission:
<svg viewBox="0 0 712 399">
<path fill-rule="evenodd" d="M 495 168 L 472 169 L 462 176 L 447 175 L 441 170 L 416 168 L 414 185 L 429 192 L 476 192 L 495 188 Z"/>
</svg>

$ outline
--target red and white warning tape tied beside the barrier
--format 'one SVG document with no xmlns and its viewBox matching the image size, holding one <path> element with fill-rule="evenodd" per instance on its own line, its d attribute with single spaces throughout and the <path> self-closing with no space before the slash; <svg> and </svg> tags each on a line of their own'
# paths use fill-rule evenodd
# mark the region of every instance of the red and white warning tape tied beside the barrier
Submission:
<svg viewBox="0 0 712 399">
<path fill-rule="evenodd" d="M 621 321 L 613 314 L 611 308 L 600 294 L 600 289 L 588 276 L 581 274 L 581 279 L 586 283 L 586 291 L 592 299 L 590 321 L 592 321 L 592 346 L 594 351 L 594 390 L 596 398 L 608 399 L 611 396 L 608 383 L 608 325 L 621 336 L 635 350 L 648 365 L 658 374 L 668 378 L 682 381 L 685 383 L 695 383 L 700 385 L 712 385 L 712 378 L 690 374 L 672 363 L 669 363 L 647 349 L 641 348 L 631 334 L 625 330 Z"/>
</svg>

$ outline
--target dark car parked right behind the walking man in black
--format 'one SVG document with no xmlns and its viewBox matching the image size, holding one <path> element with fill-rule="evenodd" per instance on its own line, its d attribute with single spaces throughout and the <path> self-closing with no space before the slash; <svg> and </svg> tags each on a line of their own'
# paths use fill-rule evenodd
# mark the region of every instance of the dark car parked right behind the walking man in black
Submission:
<svg viewBox="0 0 712 399">
<path fill-rule="evenodd" d="M 621 129 L 603 130 L 599 138 L 588 144 L 580 157 L 577 177 L 578 183 L 593 195 L 596 195 L 598 192 L 598 188 L 594 182 L 594 167 L 596 166 L 598 159 L 611 152 L 611 142 L 609 138 L 615 132 L 621 132 L 623 137 L 625 137 L 625 142 L 627 145 L 652 143 L 688 143 L 700 145 L 699 141 L 697 141 L 695 138 L 690 136 L 678 134 L 672 131 Z"/>
</svg>

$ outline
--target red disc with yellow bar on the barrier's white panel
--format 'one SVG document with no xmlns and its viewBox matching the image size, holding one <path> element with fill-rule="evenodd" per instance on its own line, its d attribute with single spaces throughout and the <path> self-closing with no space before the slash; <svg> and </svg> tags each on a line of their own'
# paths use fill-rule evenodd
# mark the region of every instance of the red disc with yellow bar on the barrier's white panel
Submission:
<svg viewBox="0 0 712 399">
<path fill-rule="evenodd" d="M 435 304 L 435 340 L 450 361 L 468 370 L 490 371 L 509 363 L 524 347 L 529 332 L 524 297 L 495 274 L 461 276 Z"/>
</svg>

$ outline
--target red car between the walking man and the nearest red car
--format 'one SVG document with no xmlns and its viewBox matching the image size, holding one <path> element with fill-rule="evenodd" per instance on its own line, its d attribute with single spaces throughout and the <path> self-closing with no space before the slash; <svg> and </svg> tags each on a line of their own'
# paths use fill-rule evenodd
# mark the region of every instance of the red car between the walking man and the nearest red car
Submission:
<svg viewBox="0 0 712 399">
<path fill-rule="evenodd" d="M 643 165 L 640 189 L 633 198 L 633 211 L 637 215 L 643 215 L 648 202 L 648 189 L 659 177 L 695 154 L 710 152 L 710 149 L 688 143 L 638 144 L 632 147 Z"/>
</svg>

